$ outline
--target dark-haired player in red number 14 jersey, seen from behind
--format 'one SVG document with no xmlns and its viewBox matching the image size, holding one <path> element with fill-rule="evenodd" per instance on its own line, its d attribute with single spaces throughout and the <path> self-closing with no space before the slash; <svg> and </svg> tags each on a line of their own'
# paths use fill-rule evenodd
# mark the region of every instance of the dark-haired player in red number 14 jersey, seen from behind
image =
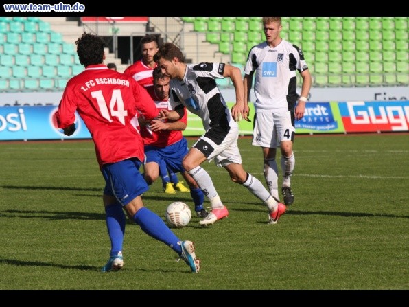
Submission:
<svg viewBox="0 0 409 307">
<path fill-rule="evenodd" d="M 67 82 L 56 120 L 65 135 L 72 135 L 78 111 L 95 144 L 106 181 L 103 201 L 111 242 L 110 258 L 101 271 L 117 271 L 124 265 L 125 209 L 145 234 L 172 248 L 197 273 L 200 260 L 194 243 L 180 240 L 157 214 L 143 206 L 141 198 L 148 185 L 139 172 L 144 151 L 135 115 L 141 113 L 149 121 L 158 115 L 158 109 L 134 79 L 103 64 L 105 43 L 99 36 L 84 33 L 75 44 L 85 70 Z"/>
</svg>

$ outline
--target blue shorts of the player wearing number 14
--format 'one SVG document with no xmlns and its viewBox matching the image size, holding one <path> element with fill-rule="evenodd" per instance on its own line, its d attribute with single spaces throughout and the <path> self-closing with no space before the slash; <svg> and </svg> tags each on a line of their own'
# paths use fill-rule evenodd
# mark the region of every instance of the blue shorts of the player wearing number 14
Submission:
<svg viewBox="0 0 409 307">
<path fill-rule="evenodd" d="M 125 206 L 135 197 L 148 191 L 148 184 L 139 172 L 141 164 L 136 158 L 104 164 L 102 166 L 102 176 L 106 182 L 104 194 L 114 196 L 122 206 Z"/>
</svg>

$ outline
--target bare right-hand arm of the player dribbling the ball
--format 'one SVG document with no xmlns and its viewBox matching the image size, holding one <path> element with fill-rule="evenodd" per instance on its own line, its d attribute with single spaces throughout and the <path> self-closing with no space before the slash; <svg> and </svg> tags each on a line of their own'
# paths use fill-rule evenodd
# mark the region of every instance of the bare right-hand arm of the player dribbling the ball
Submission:
<svg viewBox="0 0 409 307">
<path fill-rule="evenodd" d="M 236 103 L 231 108 L 231 115 L 236 122 L 242 118 L 247 120 L 247 114 L 244 113 L 244 89 L 242 82 L 242 72 L 238 67 L 226 64 L 223 71 L 224 78 L 229 77 L 236 93 Z"/>
</svg>

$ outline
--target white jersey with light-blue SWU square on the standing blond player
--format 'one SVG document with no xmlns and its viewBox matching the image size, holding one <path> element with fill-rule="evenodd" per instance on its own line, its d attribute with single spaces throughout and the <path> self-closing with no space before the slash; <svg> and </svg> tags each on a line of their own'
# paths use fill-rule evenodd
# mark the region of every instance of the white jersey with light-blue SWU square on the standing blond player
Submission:
<svg viewBox="0 0 409 307">
<path fill-rule="evenodd" d="M 284 39 L 272 48 L 266 42 L 250 49 L 244 73 L 255 71 L 255 109 L 269 113 L 272 110 L 294 111 L 296 93 L 296 71 L 308 69 L 304 54 L 299 47 Z"/>
</svg>

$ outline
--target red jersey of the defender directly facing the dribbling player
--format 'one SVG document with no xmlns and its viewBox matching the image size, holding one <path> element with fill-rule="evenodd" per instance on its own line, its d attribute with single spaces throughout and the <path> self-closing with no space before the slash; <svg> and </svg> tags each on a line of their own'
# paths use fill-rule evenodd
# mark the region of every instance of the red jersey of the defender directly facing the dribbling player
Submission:
<svg viewBox="0 0 409 307">
<path fill-rule="evenodd" d="M 156 108 L 159 109 L 167 109 L 170 110 L 169 107 L 169 99 L 167 100 L 159 100 L 159 98 L 156 96 L 156 94 L 153 91 L 152 99 L 154 100 L 156 104 Z M 180 118 L 180 121 L 184 122 L 185 124 L 187 123 L 187 111 L 185 108 L 185 114 L 183 115 L 182 118 Z M 172 145 L 176 143 L 177 141 L 180 141 L 182 139 L 183 134 L 182 131 L 180 130 L 159 130 L 159 131 L 152 131 L 150 129 L 150 126 L 144 126 L 140 127 L 141 128 L 141 136 L 143 137 L 143 142 L 145 145 L 152 145 L 152 146 L 157 146 L 157 147 L 166 147 L 168 145 Z"/>
</svg>

